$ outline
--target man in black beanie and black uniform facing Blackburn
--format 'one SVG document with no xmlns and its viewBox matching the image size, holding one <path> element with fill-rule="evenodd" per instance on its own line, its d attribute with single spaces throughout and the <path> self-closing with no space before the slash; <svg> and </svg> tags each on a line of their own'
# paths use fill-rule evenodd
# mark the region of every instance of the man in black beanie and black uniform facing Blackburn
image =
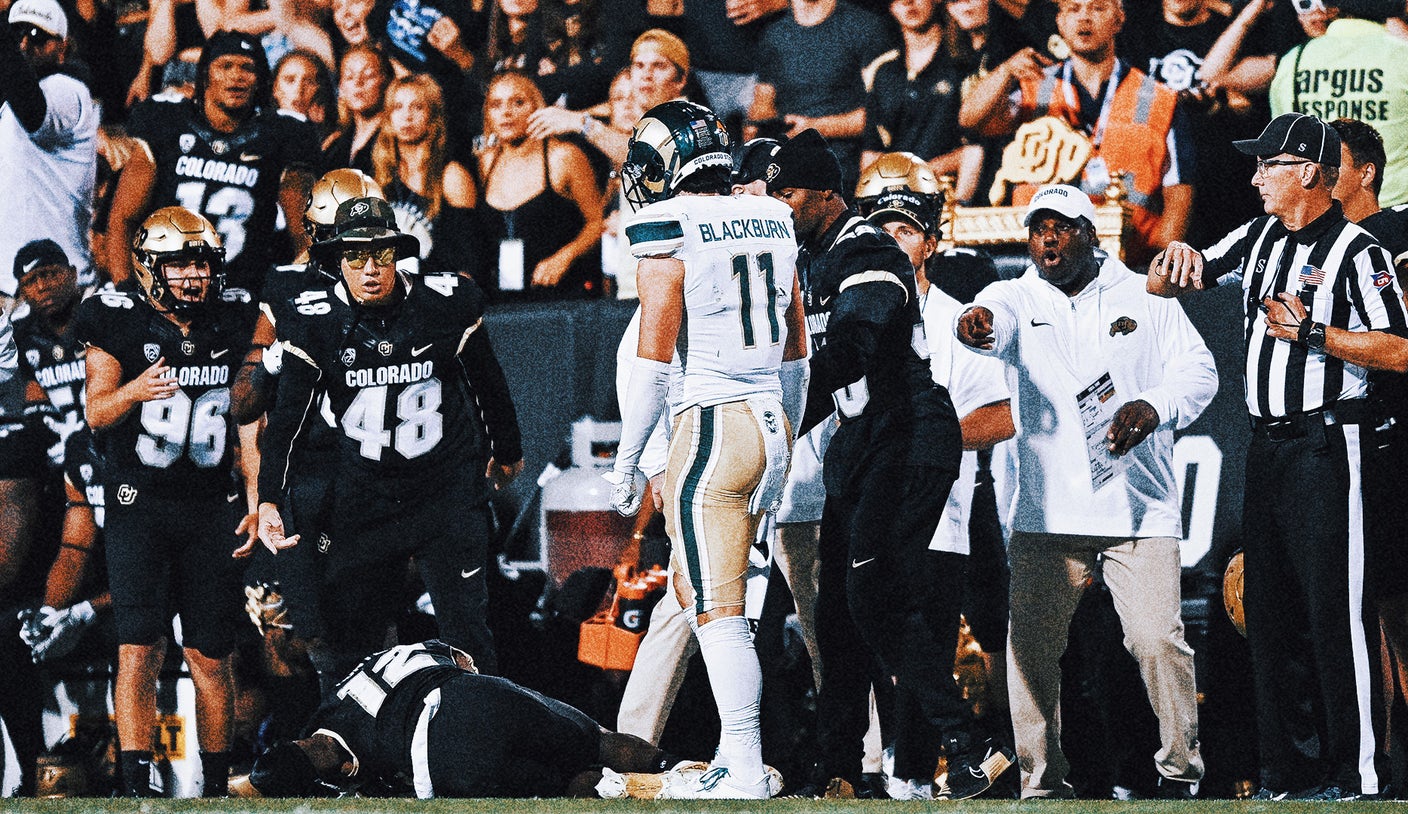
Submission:
<svg viewBox="0 0 1408 814">
<path fill-rule="evenodd" d="M 938 725 L 955 797 L 986 790 L 1010 753 L 969 735 L 972 710 L 953 683 L 957 601 L 967 556 L 928 551 L 957 477 L 962 438 L 948 390 L 929 377 L 914 266 L 890 235 L 842 197 L 826 139 L 805 130 L 763 175 L 793 210 L 797 272 L 811 330 L 811 383 L 800 434 L 839 414 L 822 465 L 818 553 L 818 763 L 800 796 L 839 777 L 857 793 L 870 676 L 895 676 L 895 777 L 929 783 Z M 952 620 L 934 624 L 929 620 Z M 931 789 L 932 791 L 932 789 Z"/>
</svg>

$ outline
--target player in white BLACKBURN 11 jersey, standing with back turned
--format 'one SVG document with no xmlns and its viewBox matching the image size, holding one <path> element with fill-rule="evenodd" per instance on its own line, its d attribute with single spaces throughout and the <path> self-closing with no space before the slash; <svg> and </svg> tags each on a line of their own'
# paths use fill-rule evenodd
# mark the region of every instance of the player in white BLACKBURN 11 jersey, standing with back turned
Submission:
<svg viewBox="0 0 1408 814">
<path fill-rule="evenodd" d="M 772 797 L 763 766 L 762 673 L 743 618 L 748 549 L 781 497 L 791 428 L 807 390 L 805 328 L 791 211 L 729 196 L 728 134 L 704 107 L 656 106 L 636 124 L 621 169 L 636 210 L 625 235 L 638 258 L 641 341 L 621 404 L 621 448 L 608 479 L 622 514 L 641 506 L 638 462 L 673 406 L 665 521 L 674 590 L 690 608 L 721 737 L 711 770 L 680 797 Z M 670 358 L 683 362 L 670 397 Z"/>
</svg>

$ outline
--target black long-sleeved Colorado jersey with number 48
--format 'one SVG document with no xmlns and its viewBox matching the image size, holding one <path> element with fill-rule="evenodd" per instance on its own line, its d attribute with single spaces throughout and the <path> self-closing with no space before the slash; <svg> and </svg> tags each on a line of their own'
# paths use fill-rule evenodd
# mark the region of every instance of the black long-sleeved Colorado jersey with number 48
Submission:
<svg viewBox="0 0 1408 814">
<path fill-rule="evenodd" d="M 401 275 L 391 306 L 353 304 L 344 283 L 310 289 L 277 321 L 279 396 L 263 437 L 262 500 L 279 503 L 287 461 L 327 396 L 339 480 L 418 503 L 436 484 L 522 456 L 517 415 L 483 327 L 483 293 L 459 275 Z M 487 430 L 487 432 L 486 432 Z M 487 497 L 487 494 L 484 496 Z"/>
</svg>

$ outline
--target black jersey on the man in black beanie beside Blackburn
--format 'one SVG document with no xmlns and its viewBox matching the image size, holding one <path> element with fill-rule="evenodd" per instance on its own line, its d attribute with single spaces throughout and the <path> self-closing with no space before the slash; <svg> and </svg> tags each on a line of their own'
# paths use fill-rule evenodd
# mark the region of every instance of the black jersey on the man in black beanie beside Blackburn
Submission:
<svg viewBox="0 0 1408 814">
<path fill-rule="evenodd" d="M 898 411 L 917 441 L 949 435 L 953 403 L 931 377 L 914 266 L 894 239 L 848 213 L 803 248 L 797 268 L 812 339 L 804 427 L 829 411 L 829 393 L 842 427 Z"/>
</svg>

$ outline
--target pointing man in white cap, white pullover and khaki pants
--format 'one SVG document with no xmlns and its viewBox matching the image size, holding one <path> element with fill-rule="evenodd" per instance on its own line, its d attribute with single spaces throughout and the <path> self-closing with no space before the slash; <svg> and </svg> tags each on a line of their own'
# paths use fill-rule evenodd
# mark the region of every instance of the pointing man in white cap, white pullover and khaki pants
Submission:
<svg viewBox="0 0 1408 814">
<path fill-rule="evenodd" d="M 1159 717 L 1160 794 L 1187 797 L 1202 758 L 1173 431 L 1207 407 L 1218 377 L 1183 310 L 1097 248 L 1094 218 L 1074 187 L 1038 192 L 1025 218 L 1032 265 L 984 289 L 956 325 L 963 344 L 1008 362 L 1017 403 L 1007 658 L 1022 797 L 1071 794 L 1060 656 L 1097 569 Z"/>
</svg>

